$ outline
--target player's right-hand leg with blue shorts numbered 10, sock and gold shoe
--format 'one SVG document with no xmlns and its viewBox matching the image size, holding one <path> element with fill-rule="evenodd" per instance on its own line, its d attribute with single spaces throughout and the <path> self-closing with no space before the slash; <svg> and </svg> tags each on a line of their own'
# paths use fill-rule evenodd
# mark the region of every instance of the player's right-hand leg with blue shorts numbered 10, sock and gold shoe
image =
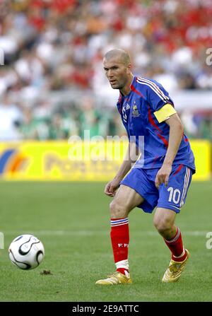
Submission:
<svg viewBox="0 0 212 316">
<path fill-rule="evenodd" d="M 162 185 L 159 188 L 154 225 L 172 253 L 170 265 L 163 276 L 163 282 L 177 281 L 189 258 L 189 252 L 183 246 L 181 232 L 175 225 L 175 217 L 185 203 L 191 180 L 191 170 L 179 165 L 173 168 L 168 186 Z"/>
</svg>

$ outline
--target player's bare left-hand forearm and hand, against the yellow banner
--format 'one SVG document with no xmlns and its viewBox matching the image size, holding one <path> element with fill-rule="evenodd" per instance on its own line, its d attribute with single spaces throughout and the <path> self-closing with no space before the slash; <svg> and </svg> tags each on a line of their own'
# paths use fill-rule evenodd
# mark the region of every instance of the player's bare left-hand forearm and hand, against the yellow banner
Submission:
<svg viewBox="0 0 212 316">
<path fill-rule="evenodd" d="M 131 169 L 133 163 L 136 162 L 138 158 L 138 148 L 136 144 L 130 142 L 128 148 L 126 150 L 126 154 L 122 165 L 120 166 L 117 175 L 115 175 L 114 179 L 107 183 L 105 186 L 105 194 L 109 197 L 114 197 L 117 188 L 119 187 L 119 183 L 122 181 L 127 172 Z"/>
</svg>

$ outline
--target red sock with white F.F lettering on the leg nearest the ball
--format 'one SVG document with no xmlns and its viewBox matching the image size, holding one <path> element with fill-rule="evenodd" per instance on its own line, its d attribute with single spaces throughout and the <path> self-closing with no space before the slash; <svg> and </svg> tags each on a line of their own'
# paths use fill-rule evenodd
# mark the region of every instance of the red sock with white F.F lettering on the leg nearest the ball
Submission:
<svg viewBox="0 0 212 316">
<path fill-rule="evenodd" d="M 129 224 L 128 218 L 111 218 L 110 238 L 114 255 L 114 262 L 117 264 L 117 271 L 124 274 L 129 271 L 128 247 L 129 247 Z M 124 261 L 123 261 L 124 260 Z M 128 268 L 128 269 L 127 269 Z"/>
</svg>

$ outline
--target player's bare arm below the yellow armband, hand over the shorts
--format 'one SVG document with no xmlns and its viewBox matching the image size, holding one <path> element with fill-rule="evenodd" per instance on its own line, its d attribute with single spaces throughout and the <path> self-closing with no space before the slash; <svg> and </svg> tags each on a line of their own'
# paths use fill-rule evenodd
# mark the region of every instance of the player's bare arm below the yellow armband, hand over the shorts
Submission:
<svg viewBox="0 0 212 316">
<path fill-rule="evenodd" d="M 182 122 L 180 121 L 176 111 L 174 114 L 169 115 L 168 118 L 165 119 L 165 122 L 170 126 L 169 144 L 163 165 L 155 177 L 156 187 L 159 187 L 162 183 L 165 183 L 165 186 L 167 186 L 170 173 L 172 171 L 172 163 L 177 155 L 184 131 Z"/>
</svg>

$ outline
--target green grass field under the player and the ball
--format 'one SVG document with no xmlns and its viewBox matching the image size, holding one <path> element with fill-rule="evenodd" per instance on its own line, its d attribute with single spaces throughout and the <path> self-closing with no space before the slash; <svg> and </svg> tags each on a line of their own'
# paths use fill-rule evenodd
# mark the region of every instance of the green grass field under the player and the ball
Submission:
<svg viewBox="0 0 212 316">
<path fill-rule="evenodd" d="M 129 216 L 129 262 L 134 281 L 127 286 L 96 286 L 114 271 L 110 245 L 109 197 L 105 183 L 0 182 L 1 301 L 143 302 L 212 301 L 212 182 L 193 182 L 177 225 L 191 258 L 177 283 L 161 283 L 170 250 L 153 227 L 153 215 L 134 209 Z M 34 270 L 13 267 L 8 245 L 32 233 L 45 245 Z M 52 274 L 40 274 L 44 269 Z"/>
</svg>

